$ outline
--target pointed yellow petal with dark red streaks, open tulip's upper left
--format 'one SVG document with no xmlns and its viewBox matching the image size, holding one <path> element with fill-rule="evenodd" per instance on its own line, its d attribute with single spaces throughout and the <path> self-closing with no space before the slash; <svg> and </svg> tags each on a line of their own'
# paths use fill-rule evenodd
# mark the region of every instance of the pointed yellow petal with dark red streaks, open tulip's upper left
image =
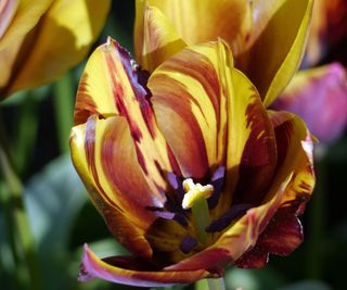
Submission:
<svg viewBox="0 0 347 290">
<path fill-rule="evenodd" d="M 140 165 L 153 190 L 165 191 L 164 172 L 171 172 L 170 152 L 157 128 L 149 92 L 140 81 L 141 71 L 130 54 L 108 38 L 89 59 L 81 78 L 75 108 L 75 124 L 89 115 L 124 116 L 136 143 Z"/>
</svg>

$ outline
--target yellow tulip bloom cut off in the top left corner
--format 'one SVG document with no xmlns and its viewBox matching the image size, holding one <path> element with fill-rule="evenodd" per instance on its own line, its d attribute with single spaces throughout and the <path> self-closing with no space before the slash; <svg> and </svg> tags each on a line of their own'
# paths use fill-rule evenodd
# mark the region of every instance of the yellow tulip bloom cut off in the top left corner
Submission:
<svg viewBox="0 0 347 290">
<path fill-rule="evenodd" d="M 0 96 L 50 83 L 80 62 L 110 7 L 110 0 L 2 0 Z"/>
</svg>

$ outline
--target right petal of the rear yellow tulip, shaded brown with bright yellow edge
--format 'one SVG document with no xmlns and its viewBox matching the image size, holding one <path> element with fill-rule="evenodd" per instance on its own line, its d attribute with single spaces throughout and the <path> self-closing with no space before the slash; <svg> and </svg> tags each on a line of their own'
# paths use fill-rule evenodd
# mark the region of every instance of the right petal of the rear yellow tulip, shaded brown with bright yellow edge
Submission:
<svg viewBox="0 0 347 290">
<path fill-rule="evenodd" d="M 254 10 L 261 12 L 264 2 L 255 1 Z M 281 7 L 274 4 L 275 13 L 261 35 L 237 59 L 237 67 L 255 84 L 266 106 L 285 88 L 299 65 L 312 3 L 312 0 L 286 0 L 281 1 Z"/>
</svg>

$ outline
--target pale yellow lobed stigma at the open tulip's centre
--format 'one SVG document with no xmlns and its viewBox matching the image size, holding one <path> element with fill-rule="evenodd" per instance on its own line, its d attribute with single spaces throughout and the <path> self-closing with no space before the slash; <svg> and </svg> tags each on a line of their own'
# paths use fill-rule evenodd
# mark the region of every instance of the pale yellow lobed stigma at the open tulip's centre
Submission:
<svg viewBox="0 0 347 290">
<path fill-rule="evenodd" d="M 211 185 L 202 186 L 201 184 L 194 184 L 192 178 L 183 181 L 183 189 L 187 192 L 182 201 L 182 207 L 184 210 L 193 207 L 194 204 L 202 199 L 207 200 L 214 192 Z"/>
</svg>

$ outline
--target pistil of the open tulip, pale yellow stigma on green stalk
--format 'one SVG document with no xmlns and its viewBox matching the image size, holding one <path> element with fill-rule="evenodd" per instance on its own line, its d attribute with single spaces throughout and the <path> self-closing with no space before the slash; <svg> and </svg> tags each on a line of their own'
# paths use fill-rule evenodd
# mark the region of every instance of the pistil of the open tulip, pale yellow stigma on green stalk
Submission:
<svg viewBox="0 0 347 290">
<path fill-rule="evenodd" d="M 207 232 L 205 228 L 210 223 L 207 199 L 211 197 L 214 187 L 211 185 L 202 186 L 201 184 L 194 184 L 192 178 L 183 180 L 182 185 L 185 191 L 182 200 L 182 207 L 184 210 L 192 210 L 198 239 L 206 245 Z"/>
</svg>

